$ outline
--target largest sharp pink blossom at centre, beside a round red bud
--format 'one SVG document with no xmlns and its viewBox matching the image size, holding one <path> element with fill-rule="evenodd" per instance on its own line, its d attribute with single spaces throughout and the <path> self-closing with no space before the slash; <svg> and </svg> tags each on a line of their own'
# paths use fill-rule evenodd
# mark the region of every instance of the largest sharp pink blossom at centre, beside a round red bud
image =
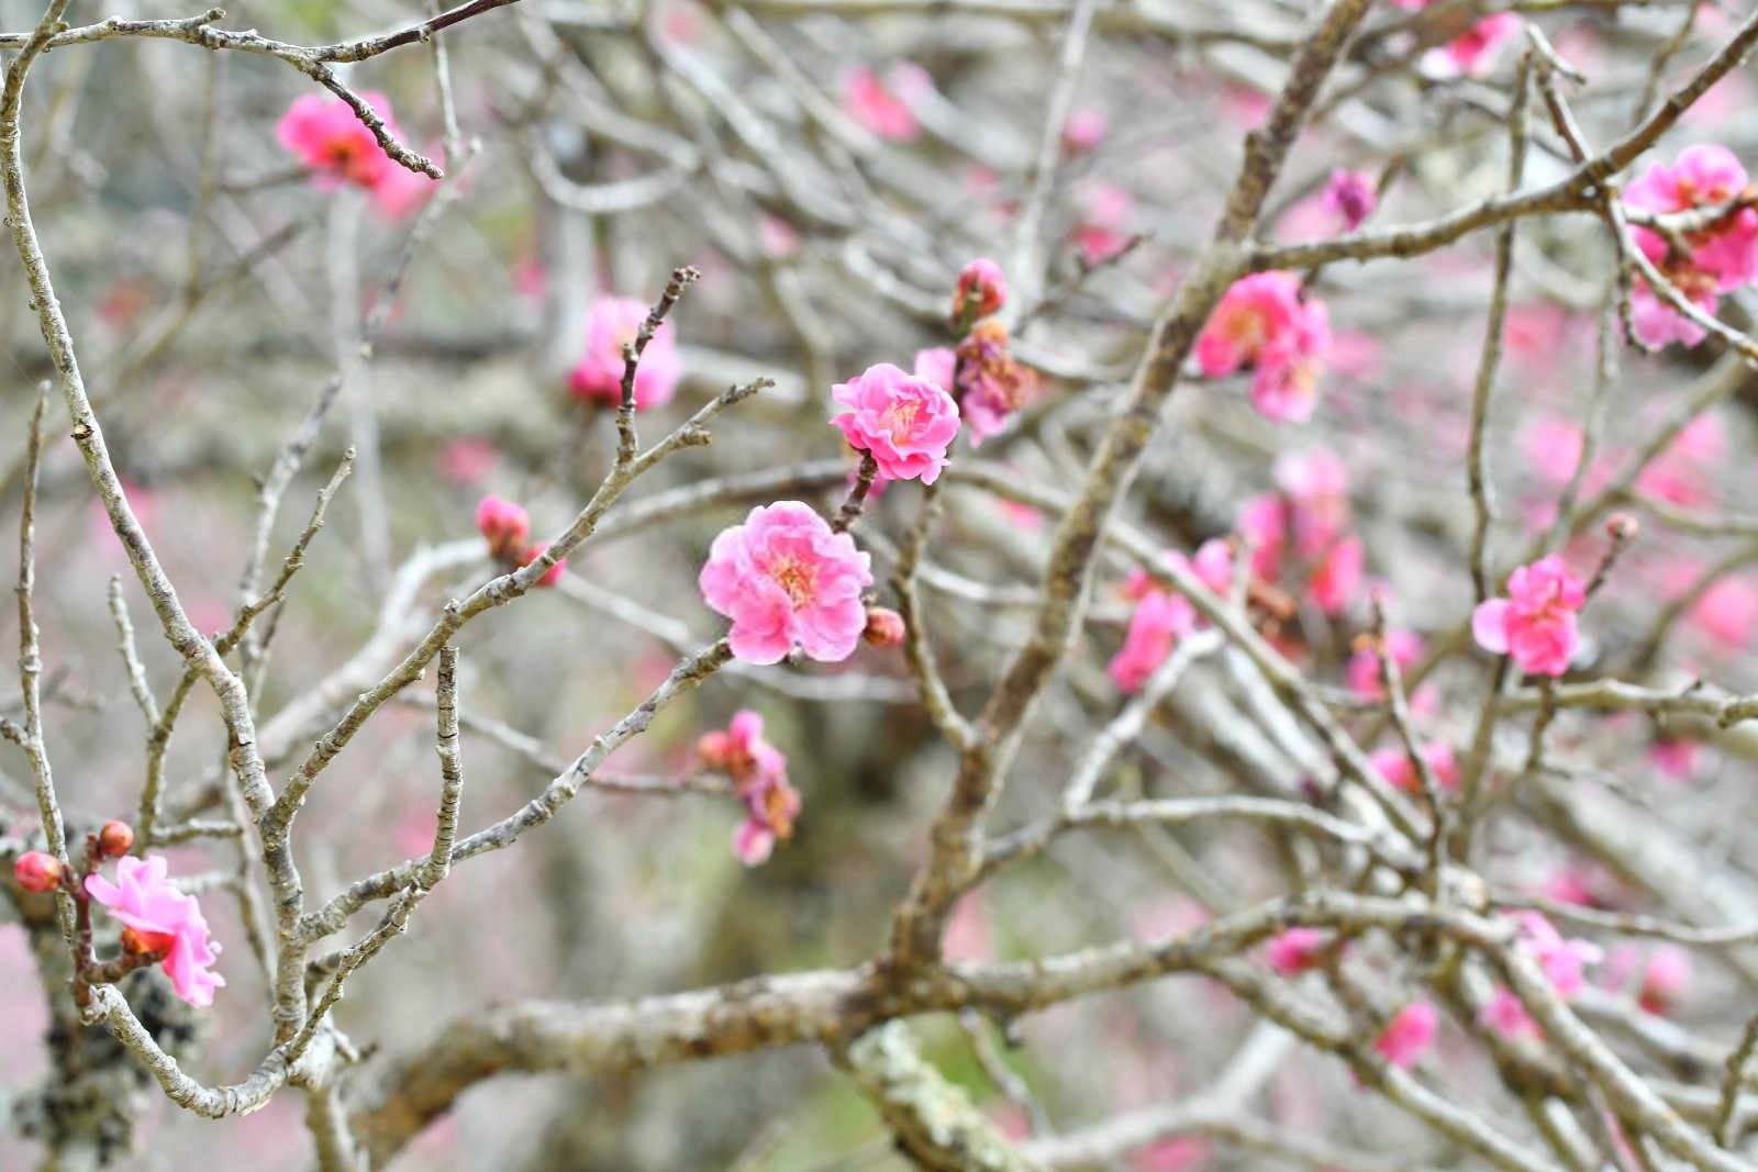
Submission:
<svg viewBox="0 0 1758 1172">
<path fill-rule="evenodd" d="M 854 654 L 867 627 L 861 590 L 870 559 L 809 504 L 779 501 L 751 510 L 714 539 L 701 568 L 701 596 L 733 620 L 733 654 L 779 662 L 795 647 L 837 662 Z"/>
</svg>

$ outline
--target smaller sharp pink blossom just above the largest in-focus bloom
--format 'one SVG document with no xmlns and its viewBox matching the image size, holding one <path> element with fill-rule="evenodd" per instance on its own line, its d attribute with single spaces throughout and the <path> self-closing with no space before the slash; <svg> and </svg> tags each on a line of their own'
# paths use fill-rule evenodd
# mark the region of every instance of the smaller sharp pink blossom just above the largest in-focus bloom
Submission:
<svg viewBox="0 0 1758 1172">
<path fill-rule="evenodd" d="M 958 404 L 939 383 L 881 362 L 832 399 L 847 408 L 830 422 L 856 452 L 867 452 L 888 480 L 932 485 L 946 467 L 946 448 L 958 434 Z"/>
</svg>

